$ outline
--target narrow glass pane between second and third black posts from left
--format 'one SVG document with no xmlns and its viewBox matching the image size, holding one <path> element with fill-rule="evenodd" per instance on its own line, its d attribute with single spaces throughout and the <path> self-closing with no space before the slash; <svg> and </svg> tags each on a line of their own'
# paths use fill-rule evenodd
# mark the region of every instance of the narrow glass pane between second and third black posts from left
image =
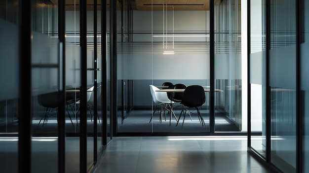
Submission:
<svg viewBox="0 0 309 173">
<path fill-rule="evenodd" d="M 65 4 L 65 64 L 66 64 L 66 113 L 72 116 L 74 126 L 66 128 L 66 171 L 79 171 L 80 155 L 80 5 Z M 72 149 L 75 148 L 75 149 Z"/>
</svg>

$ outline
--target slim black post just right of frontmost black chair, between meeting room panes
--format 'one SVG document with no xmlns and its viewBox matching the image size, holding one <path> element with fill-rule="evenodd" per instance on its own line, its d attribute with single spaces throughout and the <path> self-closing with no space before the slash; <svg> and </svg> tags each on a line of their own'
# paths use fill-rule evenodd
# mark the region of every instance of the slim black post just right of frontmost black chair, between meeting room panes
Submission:
<svg viewBox="0 0 309 173">
<path fill-rule="evenodd" d="M 209 0 L 209 55 L 210 55 L 210 92 L 209 92 L 209 125 L 210 133 L 215 133 L 215 4 Z"/>
</svg>

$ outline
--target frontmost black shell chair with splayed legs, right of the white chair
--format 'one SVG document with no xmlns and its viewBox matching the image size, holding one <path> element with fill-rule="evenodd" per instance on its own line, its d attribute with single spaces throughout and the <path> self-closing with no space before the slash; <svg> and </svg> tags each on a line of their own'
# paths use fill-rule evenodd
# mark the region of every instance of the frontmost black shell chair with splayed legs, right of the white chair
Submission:
<svg viewBox="0 0 309 173">
<path fill-rule="evenodd" d="M 196 111 L 197 111 L 197 116 L 198 116 L 199 122 L 202 124 L 202 126 L 204 126 L 205 122 L 203 120 L 203 117 L 200 114 L 198 107 L 202 106 L 205 103 L 205 101 L 206 101 L 205 91 L 204 91 L 204 88 L 202 86 L 200 86 L 200 85 L 187 86 L 184 93 L 183 93 L 183 96 L 182 96 L 181 104 L 183 104 L 184 107 L 180 112 L 178 122 L 180 120 L 182 112 L 185 111 L 184 120 L 183 120 L 183 124 L 182 124 L 182 125 L 184 125 L 187 110 L 189 108 L 195 108 Z M 178 125 L 178 122 L 177 122 L 176 126 Z"/>
</svg>

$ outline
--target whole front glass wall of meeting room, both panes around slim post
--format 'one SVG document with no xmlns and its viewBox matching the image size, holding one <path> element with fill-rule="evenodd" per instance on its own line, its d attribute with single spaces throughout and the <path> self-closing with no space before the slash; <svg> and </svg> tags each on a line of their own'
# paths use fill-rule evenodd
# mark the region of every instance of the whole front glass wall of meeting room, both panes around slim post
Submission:
<svg viewBox="0 0 309 173">
<path fill-rule="evenodd" d="M 127 1 L 117 13 L 117 133 L 210 133 L 210 10 L 202 4 Z M 215 131 L 246 132 L 242 116 L 240 1 L 215 4 Z M 157 109 L 150 85 L 201 85 L 205 102 L 180 116 L 182 105 Z M 161 91 L 162 92 L 162 91 Z M 163 91 L 164 92 L 164 91 Z M 158 93 L 158 92 L 154 92 Z M 164 92 L 166 94 L 166 92 Z M 246 116 L 246 114 L 245 114 Z M 178 122 L 179 120 L 179 122 Z M 177 125 L 177 126 L 176 126 Z M 212 125 L 212 126 L 214 126 Z"/>
</svg>

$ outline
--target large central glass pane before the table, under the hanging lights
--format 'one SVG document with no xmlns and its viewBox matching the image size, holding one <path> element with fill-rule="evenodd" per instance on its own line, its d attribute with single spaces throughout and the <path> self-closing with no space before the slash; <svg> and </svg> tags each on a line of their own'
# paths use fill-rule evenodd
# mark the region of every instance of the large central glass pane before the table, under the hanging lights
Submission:
<svg viewBox="0 0 309 173">
<path fill-rule="evenodd" d="M 117 132 L 210 132 L 209 2 L 136 1 L 134 6 L 120 3 L 118 9 L 122 11 L 117 13 L 117 26 L 121 26 L 117 29 Z M 170 103 L 157 109 L 150 85 L 162 89 L 164 82 L 203 86 L 205 102 L 198 108 L 204 126 L 195 108 L 186 112 L 184 120 L 179 102 L 174 103 L 172 114 Z M 120 110 L 123 105 L 129 106 Z"/>
</svg>

